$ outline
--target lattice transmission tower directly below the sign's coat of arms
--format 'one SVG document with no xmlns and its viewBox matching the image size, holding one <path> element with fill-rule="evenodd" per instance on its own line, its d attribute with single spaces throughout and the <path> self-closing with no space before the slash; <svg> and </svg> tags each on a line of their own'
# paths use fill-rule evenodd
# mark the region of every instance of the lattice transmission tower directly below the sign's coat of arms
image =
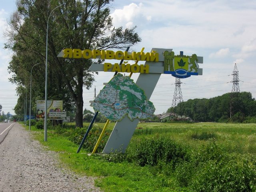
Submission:
<svg viewBox="0 0 256 192">
<path fill-rule="evenodd" d="M 180 78 L 176 78 L 174 96 L 172 100 L 172 111 L 170 112 L 169 120 L 186 120 L 187 118 L 180 84 L 182 84 L 182 82 L 180 82 Z"/>
</svg>

